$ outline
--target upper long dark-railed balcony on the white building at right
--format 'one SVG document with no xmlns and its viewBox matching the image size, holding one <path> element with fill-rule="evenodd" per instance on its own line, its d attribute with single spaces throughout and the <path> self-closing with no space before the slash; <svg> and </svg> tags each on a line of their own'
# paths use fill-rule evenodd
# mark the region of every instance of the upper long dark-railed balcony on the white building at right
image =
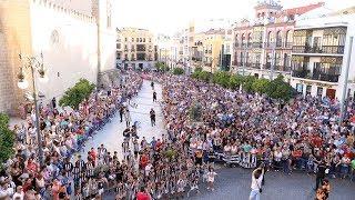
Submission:
<svg viewBox="0 0 355 200">
<path fill-rule="evenodd" d="M 294 53 L 326 53 L 326 54 L 343 54 L 344 46 L 293 46 Z"/>
</svg>

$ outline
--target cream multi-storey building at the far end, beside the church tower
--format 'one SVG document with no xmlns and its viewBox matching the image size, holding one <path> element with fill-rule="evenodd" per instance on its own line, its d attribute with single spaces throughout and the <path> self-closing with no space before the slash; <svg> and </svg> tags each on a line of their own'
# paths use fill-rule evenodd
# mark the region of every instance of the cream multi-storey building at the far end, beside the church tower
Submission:
<svg viewBox="0 0 355 200">
<path fill-rule="evenodd" d="M 116 30 L 116 64 L 125 69 L 154 67 L 156 49 L 154 36 L 146 29 L 123 28 Z"/>
</svg>

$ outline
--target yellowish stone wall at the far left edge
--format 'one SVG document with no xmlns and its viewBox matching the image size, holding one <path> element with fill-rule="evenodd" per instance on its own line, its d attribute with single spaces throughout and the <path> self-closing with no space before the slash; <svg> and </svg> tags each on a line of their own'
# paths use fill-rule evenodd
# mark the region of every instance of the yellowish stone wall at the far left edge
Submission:
<svg viewBox="0 0 355 200">
<path fill-rule="evenodd" d="M 18 113 L 23 92 L 17 87 L 19 53 L 31 54 L 29 0 L 0 1 L 0 112 Z"/>
</svg>

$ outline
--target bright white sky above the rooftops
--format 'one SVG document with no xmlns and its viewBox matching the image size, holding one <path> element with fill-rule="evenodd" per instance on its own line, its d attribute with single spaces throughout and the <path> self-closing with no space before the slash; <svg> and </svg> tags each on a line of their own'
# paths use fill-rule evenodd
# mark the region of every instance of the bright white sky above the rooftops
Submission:
<svg viewBox="0 0 355 200">
<path fill-rule="evenodd" d="M 281 0 L 284 8 L 315 3 L 322 0 Z M 154 33 L 174 33 L 189 21 L 253 17 L 257 0 L 116 0 L 118 27 L 145 28 Z M 327 8 L 343 9 L 355 6 L 355 0 L 323 0 Z M 341 3 L 339 3 L 341 2 Z"/>
</svg>

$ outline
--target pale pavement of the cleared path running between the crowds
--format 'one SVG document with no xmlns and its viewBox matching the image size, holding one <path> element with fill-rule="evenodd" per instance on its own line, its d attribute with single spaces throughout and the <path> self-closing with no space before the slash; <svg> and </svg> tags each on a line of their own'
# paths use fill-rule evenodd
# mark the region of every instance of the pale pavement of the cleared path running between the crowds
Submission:
<svg viewBox="0 0 355 200">
<path fill-rule="evenodd" d="M 154 87 L 158 101 L 162 99 L 162 88 L 160 84 Z M 136 108 L 130 107 L 132 123 L 134 121 L 140 122 L 140 128 L 138 129 L 138 134 L 140 137 L 145 137 L 148 141 L 151 141 L 153 137 L 161 138 L 162 133 L 165 133 L 164 120 L 162 116 L 162 110 L 159 102 L 153 102 L 153 90 L 150 86 L 150 81 L 144 80 L 142 89 L 139 91 L 136 97 L 133 97 L 131 104 L 138 104 Z M 151 126 L 150 110 L 153 108 L 156 113 L 156 126 Z M 131 123 L 131 124 L 132 124 Z M 115 117 L 111 122 L 106 123 L 102 130 L 100 130 L 92 139 L 85 142 L 85 148 L 81 152 L 82 158 L 87 159 L 88 151 L 93 147 L 98 148 L 101 143 L 108 149 L 108 151 L 118 151 L 119 159 L 122 159 L 122 142 L 123 142 L 123 130 L 125 129 L 125 121 L 120 122 L 120 116 L 116 112 Z"/>
</svg>

